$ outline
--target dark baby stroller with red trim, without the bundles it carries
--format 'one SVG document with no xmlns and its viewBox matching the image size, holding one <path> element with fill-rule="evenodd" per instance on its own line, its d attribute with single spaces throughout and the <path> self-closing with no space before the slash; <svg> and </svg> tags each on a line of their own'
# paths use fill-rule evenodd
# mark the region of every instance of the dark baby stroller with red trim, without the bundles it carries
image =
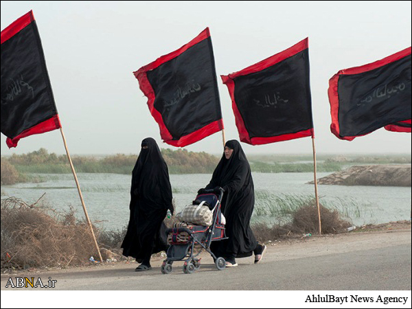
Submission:
<svg viewBox="0 0 412 309">
<path fill-rule="evenodd" d="M 161 273 L 172 273 L 173 262 L 182 260 L 185 262 L 183 273 L 194 273 L 201 266 L 201 259 L 197 259 L 197 257 L 203 250 L 210 253 L 219 271 L 225 269 L 225 259 L 216 258 L 216 255 L 210 251 L 211 242 L 227 239 L 220 210 L 220 202 L 222 201 L 224 190 L 220 188 L 219 191 L 218 196 L 214 194 L 214 190 L 205 190 L 205 194 L 196 196 L 196 201 L 205 201 L 209 205 L 209 209 L 213 210 L 213 220 L 209 227 L 189 225 L 187 227 L 174 227 L 166 231 L 168 235 L 172 235 L 172 240 L 167 251 L 167 258 L 161 266 Z M 182 238 L 179 238 L 182 234 L 188 237 L 182 240 Z M 197 253 L 194 252 L 195 245 L 197 249 L 200 247 Z"/>
</svg>

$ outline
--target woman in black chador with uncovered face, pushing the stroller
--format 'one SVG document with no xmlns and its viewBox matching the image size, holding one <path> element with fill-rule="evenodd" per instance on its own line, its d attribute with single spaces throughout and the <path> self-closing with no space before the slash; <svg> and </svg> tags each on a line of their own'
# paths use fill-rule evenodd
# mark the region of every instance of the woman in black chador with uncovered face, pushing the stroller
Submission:
<svg viewBox="0 0 412 309">
<path fill-rule="evenodd" d="M 217 257 L 225 258 L 228 267 L 238 266 L 236 258 L 246 258 L 255 253 L 255 263 L 262 259 L 266 246 L 258 244 L 251 231 L 250 221 L 255 205 L 255 192 L 251 168 L 246 155 L 236 140 L 227 141 L 225 152 L 205 189 L 222 187 L 222 212 L 226 218 L 228 240 L 212 242 L 211 250 Z M 199 190 L 199 194 L 204 189 Z"/>
</svg>

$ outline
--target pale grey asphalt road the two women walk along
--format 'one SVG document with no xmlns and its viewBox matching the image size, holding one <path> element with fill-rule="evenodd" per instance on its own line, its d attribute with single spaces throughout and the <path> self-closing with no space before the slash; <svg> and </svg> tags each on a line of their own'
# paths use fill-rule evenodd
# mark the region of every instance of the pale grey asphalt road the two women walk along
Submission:
<svg viewBox="0 0 412 309">
<path fill-rule="evenodd" d="M 175 262 L 173 272 L 134 271 L 137 264 L 106 264 L 54 271 L 1 275 L 1 290 L 11 277 L 40 277 L 53 290 L 411 290 L 411 229 L 312 237 L 277 242 L 268 247 L 260 264 L 239 259 L 239 266 L 218 271 L 209 255 L 192 275 Z M 51 288 L 38 288 L 51 290 Z"/>
</svg>

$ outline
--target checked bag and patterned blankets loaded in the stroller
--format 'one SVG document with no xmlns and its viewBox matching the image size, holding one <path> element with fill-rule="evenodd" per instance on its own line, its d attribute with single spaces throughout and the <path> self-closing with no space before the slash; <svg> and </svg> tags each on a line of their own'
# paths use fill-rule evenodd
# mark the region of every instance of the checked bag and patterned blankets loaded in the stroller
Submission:
<svg viewBox="0 0 412 309">
<path fill-rule="evenodd" d="M 218 207 L 218 206 L 216 206 Z M 176 214 L 176 220 L 173 227 L 187 227 L 187 229 L 194 230 L 196 227 L 211 227 L 213 224 L 214 211 L 217 210 L 213 205 L 209 205 L 206 201 L 195 200 L 190 205 L 186 205 L 185 208 Z M 225 217 L 219 211 L 218 223 L 225 225 Z M 173 233 L 168 234 L 168 244 L 181 242 L 189 242 L 189 234 L 182 231 L 177 236 Z"/>
</svg>

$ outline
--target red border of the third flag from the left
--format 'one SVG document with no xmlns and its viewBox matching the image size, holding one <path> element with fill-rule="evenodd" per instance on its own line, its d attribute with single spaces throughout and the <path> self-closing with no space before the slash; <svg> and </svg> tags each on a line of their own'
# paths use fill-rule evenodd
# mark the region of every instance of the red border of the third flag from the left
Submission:
<svg viewBox="0 0 412 309">
<path fill-rule="evenodd" d="M 276 135 L 273 137 L 250 137 L 247 131 L 247 128 L 244 124 L 244 119 L 242 115 L 240 114 L 238 104 L 236 104 L 236 100 L 235 100 L 235 82 L 234 82 L 235 78 L 238 78 L 239 76 L 246 76 L 251 73 L 256 73 L 264 69 L 267 69 L 268 67 L 276 65 L 277 63 L 287 58 L 295 56 L 296 54 L 304 51 L 305 49 L 308 49 L 308 38 L 305 38 L 304 40 L 300 41 L 299 43 L 296 43 L 292 47 L 285 49 L 283 52 L 279 52 L 278 54 L 275 54 L 269 58 L 266 58 L 265 60 L 255 63 L 255 65 L 251 65 L 250 67 L 247 67 L 235 73 L 231 73 L 227 76 L 225 75 L 220 76 L 222 78 L 223 84 L 226 84 L 227 89 L 229 90 L 229 95 L 230 95 L 231 102 L 232 102 L 232 109 L 235 115 L 235 122 L 238 128 L 240 141 L 243 141 L 244 143 L 251 144 L 251 145 L 262 145 L 262 144 L 270 144 L 276 141 L 288 141 L 290 139 L 298 139 L 301 137 L 309 137 L 309 136 L 314 137 L 313 128 L 310 128 L 308 130 L 299 131 L 297 133 L 288 133 L 284 135 Z"/>
</svg>

